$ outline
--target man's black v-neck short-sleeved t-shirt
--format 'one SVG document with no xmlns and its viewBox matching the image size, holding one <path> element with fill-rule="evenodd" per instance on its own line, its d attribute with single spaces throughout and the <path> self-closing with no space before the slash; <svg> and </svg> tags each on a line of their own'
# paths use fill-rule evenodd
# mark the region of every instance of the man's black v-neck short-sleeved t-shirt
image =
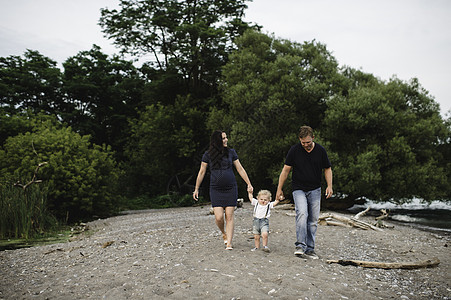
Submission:
<svg viewBox="0 0 451 300">
<path fill-rule="evenodd" d="M 285 159 L 285 164 L 292 167 L 292 188 L 308 192 L 321 187 L 321 171 L 331 167 L 326 149 L 315 143 L 309 153 L 301 143 L 291 147 Z"/>
</svg>

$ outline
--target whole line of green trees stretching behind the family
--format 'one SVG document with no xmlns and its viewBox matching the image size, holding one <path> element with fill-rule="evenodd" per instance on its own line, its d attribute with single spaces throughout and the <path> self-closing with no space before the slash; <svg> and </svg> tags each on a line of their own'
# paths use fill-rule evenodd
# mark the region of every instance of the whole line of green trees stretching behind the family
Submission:
<svg viewBox="0 0 451 300">
<path fill-rule="evenodd" d="M 99 24 L 122 54 L 151 57 L 139 67 L 96 45 L 62 69 L 36 50 L 1 57 L 0 208 L 43 162 L 42 198 L 58 220 L 191 204 L 216 129 L 254 187 L 274 189 L 301 125 L 328 149 L 337 198 L 449 201 L 451 120 L 417 79 L 339 66 L 320 42 L 262 33 L 243 20 L 246 8 L 122 0 L 102 9 Z"/>
</svg>

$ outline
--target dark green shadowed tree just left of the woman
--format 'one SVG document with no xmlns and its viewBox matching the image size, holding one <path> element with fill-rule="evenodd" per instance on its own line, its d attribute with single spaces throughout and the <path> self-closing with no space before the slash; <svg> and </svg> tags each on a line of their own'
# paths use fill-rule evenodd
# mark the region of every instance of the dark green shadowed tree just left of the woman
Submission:
<svg viewBox="0 0 451 300">
<path fill-rule="evenodd" d="M 200 127 L 203 114 L 189 103 L 188 97 L 180 96 L 174 105 L 151 105 L 132 122 L 124 188 L 131 189 L 129 194 L 161 195 L 168 192 L 172 177 L 186 179 L 194 173 L 193 157 L 204 132 Z"/>
</svg>

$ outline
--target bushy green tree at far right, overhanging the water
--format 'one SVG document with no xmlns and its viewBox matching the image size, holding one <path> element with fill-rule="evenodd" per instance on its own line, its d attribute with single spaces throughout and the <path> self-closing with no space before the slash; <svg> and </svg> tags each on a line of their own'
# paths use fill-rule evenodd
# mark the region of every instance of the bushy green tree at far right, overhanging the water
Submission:
<svg viewBox="0 0 451 300">
<path fill-rule="evenodd" d="M 449 130 L 438 104 L 416 79 L 344 73 L 352 88 L 329 100 L 322 131 L 334 157 L 334 189 L 350 199 L 444 199 L 449 177 L 438 149 Z"/>
</svg>

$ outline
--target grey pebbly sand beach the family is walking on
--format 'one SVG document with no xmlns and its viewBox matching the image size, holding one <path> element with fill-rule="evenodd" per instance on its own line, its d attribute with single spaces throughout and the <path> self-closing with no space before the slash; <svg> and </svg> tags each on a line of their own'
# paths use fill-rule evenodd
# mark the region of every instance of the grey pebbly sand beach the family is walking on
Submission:
<svg viewBox="0 0 451 300">
<path fill-rule="evenodd" d="M 0 299 L 451 299 L 449 235 L 391 222 L 382 232 L 319 225 L 312 260 L 293 254 L 287 210 L 271 214 L 270 253 L 250 251 L 249 202 L 235 212 L 232 251 L 209 212 L 139 211 L 90 222 L 71 242 L 2 251 Z M 437 267 L 413 270 L 327 262 L 433 258 Z"/>
</svg>

